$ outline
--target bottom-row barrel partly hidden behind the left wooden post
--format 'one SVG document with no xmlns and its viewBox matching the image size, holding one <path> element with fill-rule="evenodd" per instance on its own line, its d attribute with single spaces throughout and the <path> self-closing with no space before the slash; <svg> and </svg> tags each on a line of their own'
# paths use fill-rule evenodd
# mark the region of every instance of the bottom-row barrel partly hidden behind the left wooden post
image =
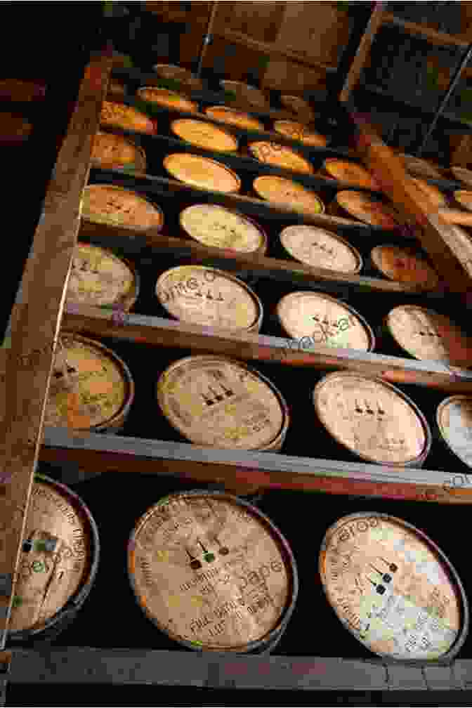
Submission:
<svg viewBox="0 0 472 708">
<path fill-rule="evenodd" d="M 8 645 L 51 641 L 62 632 L 93 587 L 100 555 L 96 523 L 84 502 L 40 474 L 23 538 Z"/>
</svg>

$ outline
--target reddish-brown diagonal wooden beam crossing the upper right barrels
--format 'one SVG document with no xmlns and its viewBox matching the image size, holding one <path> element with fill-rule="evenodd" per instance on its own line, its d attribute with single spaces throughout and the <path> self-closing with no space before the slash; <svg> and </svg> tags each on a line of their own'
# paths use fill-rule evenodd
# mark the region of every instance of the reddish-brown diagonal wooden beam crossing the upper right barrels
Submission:
<svg viewBox="0 0 472 708">
<path fill-rule="evenodd" d="M 472 292 L 472 282 L 456 253 L 449 246 L 454 242 L 451 225 L 440 215 L 423 193 L 419 194 L 405 172 L 401 159 L 375 134 L 368 118 L 352 114 L 359 136 L 356 147 L 364 164 L 374 174 L 384 193 L 403 212 L 405 219 L 413 219 L 422 247 L 429 253 L 432 263 L 444 280 L 449 292 L 461 293 L 464 298 Z"/>
</svg>

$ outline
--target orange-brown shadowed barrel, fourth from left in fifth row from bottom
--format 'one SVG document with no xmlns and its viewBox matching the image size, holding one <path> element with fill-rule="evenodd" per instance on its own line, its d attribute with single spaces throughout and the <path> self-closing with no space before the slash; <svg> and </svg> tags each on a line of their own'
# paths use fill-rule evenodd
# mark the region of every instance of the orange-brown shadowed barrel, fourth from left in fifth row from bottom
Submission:
<svg viewBox="0 0 472 708">
<path fill-rule="evenodd" d="M 373 200 L 362 192 L 353 192 L 352 190 L 338 192 L 328 206 L 328 214 L 345 219 L 359 219 L 364 224 L 378 226 L 382 229 L 398 227 L 398 221 L 394 217 L 395 211 L 390 205 Z"/>
</svg>

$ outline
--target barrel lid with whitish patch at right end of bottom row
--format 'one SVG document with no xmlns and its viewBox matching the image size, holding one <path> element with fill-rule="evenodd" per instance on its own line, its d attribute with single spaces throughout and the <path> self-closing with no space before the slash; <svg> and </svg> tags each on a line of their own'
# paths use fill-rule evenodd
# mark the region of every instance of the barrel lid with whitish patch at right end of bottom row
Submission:
<svg viewBox="0 0 472 708">
<path fill-rule="evenodd" d="M 338 618 L 374 653 L 425 661 L 465 639 L 459 578 L 435 544 L 401 519 L 340 518 L 323 539 L 319 573 Z"/>
</svg>

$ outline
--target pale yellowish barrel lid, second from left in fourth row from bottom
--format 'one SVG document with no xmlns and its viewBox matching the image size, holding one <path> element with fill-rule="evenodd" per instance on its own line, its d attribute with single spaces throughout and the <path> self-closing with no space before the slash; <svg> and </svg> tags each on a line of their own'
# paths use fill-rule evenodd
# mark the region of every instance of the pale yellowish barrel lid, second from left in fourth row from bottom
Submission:
<svg viewBox="0 0 472 708">
<path fill-rule="evenodd" d="M 205 246 L 254 253 L 265 249 L 267 236 L 248 217 L 217 204 L 194 204 L 180 212 L 180 226 Z"/>
</svg>

